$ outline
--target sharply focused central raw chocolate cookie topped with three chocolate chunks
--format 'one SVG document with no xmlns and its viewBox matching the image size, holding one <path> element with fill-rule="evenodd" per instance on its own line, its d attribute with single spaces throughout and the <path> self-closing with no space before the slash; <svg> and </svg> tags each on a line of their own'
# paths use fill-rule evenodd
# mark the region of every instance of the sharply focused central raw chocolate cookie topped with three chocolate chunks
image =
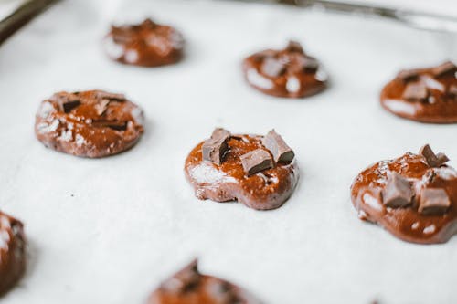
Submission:
<svg viewBox="0 0 457 304">
<path fill-rule="evenodd" d="M 216 129 L 187 156 L 185 173 L 197 198 L 258 210 L 284 204 L 299 177 L 292 149 L 274 130 L 259 136 Z"/>
</svg>

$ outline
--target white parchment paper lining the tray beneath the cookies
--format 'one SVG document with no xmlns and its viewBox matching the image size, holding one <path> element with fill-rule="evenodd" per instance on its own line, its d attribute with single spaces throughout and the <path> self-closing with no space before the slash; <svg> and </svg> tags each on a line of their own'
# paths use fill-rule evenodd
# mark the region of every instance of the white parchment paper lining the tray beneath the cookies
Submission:
<svg viewBox="0 0 457 304">
<path fill-rule="evenodd" d="M 457 237 L 438 246 L 399 241 L 358 220 L 349 199 L 368 164 L 425 142 L 457 165 L 455 125 L 401 120 L 378 104 L 400 68 L 455 60 L 455 36 L 274 5 L 110 4 L 63 2 L 0 48 L 0 208 L 26 224 L 30 256 L 2 303 L 143 303 L 192 257 L 267 303 L 457 301 Z M 106 58 L 110 23 L 145 16 L 183 32 L 183 62 L 134 68 Z M 324 63 L 324 93 L 285 100 L 244 82 L 242 58 L 289 38 Z M 122 92 L 143 107 L 146 131 L 131 151 L 90 160 L 37 142 L 39 102 L 82 89 Z M 301 180 L 282 208 L 194 197 L 184 160 L 216 126 L 275 128 L 295 150 Z"/>
</svg>

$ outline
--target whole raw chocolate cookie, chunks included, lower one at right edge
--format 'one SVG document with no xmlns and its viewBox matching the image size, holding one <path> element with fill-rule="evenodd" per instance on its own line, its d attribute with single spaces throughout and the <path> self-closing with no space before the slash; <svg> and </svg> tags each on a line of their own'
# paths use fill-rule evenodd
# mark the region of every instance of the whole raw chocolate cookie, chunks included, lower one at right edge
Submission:
<svg viewBox="0 0 457 304">
<path fill-rule="evenodd" d="M 408 242 L 446 242 L 457 233 L 457 172 L 445 162 L 425 145 L 368 167 L 351 188 L 359 217 Z"/>
</svg>

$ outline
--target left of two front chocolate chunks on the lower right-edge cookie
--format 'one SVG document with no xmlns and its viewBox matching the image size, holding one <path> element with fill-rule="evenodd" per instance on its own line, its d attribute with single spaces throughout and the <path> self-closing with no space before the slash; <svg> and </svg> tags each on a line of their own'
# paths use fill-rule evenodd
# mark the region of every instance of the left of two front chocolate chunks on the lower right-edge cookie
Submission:
<svg viewBox="0 0 457 304">
<path fill-rule="evenodd" d="M 412 203 L 411 184 L 397 173 L 388 176 L 386 189 L 382 193 L 382 202 L 390 208 L 401 208 Z"/>
</svg>

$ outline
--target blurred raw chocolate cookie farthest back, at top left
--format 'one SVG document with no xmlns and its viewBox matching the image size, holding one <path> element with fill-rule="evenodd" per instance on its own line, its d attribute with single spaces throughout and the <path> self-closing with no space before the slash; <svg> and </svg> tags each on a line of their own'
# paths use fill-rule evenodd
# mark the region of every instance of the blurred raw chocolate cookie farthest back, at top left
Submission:
<svg viewBox="0 0 457 304">
<path fill-rule="evenodd" d="M 112 26 L 103 46 L 113 60 L 157 67 L 173 64 L 183 57 L 184 39 L 175 28 L 146 19 L 139 25 Z"/>
</svg>

